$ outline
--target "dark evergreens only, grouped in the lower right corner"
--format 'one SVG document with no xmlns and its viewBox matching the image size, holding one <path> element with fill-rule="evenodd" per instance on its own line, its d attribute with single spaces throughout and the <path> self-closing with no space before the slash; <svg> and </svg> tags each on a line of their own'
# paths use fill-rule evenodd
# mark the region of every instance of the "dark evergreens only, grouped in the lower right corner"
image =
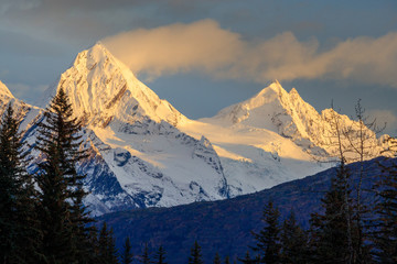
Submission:
<svg viewBox="0 0 397 264">
<path fill-rule="evenodd" d="M 309 230 L 297 223 L 293 211 L 280 223 L 279 211 L 269 201 L 262 216 L 265 227 L 253 232 L 257 242 L 239 261 L 397 263 L 397 165 L 383 168 L 373 190 L 377 199 L 369 210 L 352 198 L 351 172 L 342 163 L 321 200 L 321 212 L 311 215 Z"/>
</svg>

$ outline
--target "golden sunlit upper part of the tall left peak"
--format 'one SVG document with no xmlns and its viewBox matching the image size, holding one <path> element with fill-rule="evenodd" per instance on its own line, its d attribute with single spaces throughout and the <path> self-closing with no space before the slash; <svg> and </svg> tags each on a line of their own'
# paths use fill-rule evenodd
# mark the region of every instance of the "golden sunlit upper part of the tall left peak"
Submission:
<svg viewBox="0 0 397 264">
<path fill-rule="evenodd" d="M 75 114 L 92 125 L 106 127 L 116 119 L 131 123 L 144 118 L 176 125 L 185 119 L 139 81 L 100 42 L 76 56 L 47 98 L 61 88 L 68 95 Z"/>
</svg>

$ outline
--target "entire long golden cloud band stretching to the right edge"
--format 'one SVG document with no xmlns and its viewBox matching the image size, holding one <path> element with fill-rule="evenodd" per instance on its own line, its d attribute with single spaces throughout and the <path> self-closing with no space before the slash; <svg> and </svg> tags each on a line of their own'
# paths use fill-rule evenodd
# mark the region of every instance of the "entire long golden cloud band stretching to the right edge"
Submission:
<svg viewBox="0 0 397 264">
<path fill-rule="evenodd" d="M 397 88 L 397 33 L 355 37 L 320 51 L 316 38 L 285 32 L 247 41 L 214 20 L 122 32 L 103 40 L 135 73 L 151 77 L 202 70 L 216 78 L 351 79 Z"/>
</svg>

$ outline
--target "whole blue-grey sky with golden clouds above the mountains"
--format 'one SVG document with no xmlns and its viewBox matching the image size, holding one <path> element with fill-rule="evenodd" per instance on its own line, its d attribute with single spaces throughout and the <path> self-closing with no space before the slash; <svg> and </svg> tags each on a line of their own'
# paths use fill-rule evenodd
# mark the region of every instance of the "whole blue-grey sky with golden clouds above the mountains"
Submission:
<svg viewBox="0 0 397 264">
<path fill-rule="evenodd" d="M 0 80 L 28 102 L 97 41 L 190 118 L 278 79 L 397 134 L 395 0 L 0 0 Z"/>
</svg>

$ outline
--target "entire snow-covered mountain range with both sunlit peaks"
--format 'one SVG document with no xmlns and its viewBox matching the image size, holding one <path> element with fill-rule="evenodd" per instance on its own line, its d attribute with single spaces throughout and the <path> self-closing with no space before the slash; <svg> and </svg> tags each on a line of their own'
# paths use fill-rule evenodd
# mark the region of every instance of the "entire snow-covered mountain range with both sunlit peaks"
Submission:
<svg viewBox="0 0 397 264">
<path fill-rule="evenodd" d="M 325 118 L 332 110 L 318 113 L 294 89 L 287 92 L 275 81 L 213 118 L 190 120 L 100 43 L 77 55 L 44 94 L 41 108 L 19 101 L 0 82 L 1 111 L 11 100 L 23 109 L 30 144 L 42 109 L 61 88 L 84 123 L 90 155 L 78 170 L 87 175 L 86 204 L 96 215 L 258 191 L 324 169 L 312 156 L 331 152 Z M 345 127 L 354 123 L 337 117 Z"/>
</svg>

